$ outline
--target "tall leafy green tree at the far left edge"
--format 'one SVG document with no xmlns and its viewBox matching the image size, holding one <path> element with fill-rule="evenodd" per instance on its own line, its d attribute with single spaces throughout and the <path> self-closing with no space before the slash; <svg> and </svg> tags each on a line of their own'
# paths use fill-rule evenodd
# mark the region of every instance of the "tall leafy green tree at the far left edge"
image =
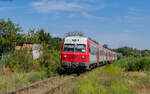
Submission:
<svg viewBox="0 0 150 94">
<path fill-rule="evenodd" d="M 20 40 L 16 37 L 19 32 L 22 32 L 22 29 L 18 24 L 14 24 L 10 19 L 0 19 L 0 53 L 6 53 L 15 47 L 15 41 Z"/>
</svg>

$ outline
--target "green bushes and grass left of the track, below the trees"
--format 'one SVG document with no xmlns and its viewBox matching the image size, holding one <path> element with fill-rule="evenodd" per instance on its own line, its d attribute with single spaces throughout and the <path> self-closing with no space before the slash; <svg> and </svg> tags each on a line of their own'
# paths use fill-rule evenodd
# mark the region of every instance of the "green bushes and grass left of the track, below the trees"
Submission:
<svg viewBox="0 0 150 94">
<path fill-rule="evenodd" d="M 59 68 L 60 51 L 44 50 L 37 60 L 26 50 L 15 51 L 0 63 L 0 94 L 56 76 Z"/>
</svg>

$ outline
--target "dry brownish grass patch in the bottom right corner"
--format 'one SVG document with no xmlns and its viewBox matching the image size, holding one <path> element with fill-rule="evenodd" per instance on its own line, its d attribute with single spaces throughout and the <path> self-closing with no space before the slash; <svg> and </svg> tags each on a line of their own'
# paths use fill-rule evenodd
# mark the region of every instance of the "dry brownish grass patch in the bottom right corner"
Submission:
<svg viewBox="0 0 150 94">
<path fill-rule="evenodd" d="M 127 72 L 127 78 L 134 94 L 150 94 L 150 75 L 148 72 Z"/>
</svg>

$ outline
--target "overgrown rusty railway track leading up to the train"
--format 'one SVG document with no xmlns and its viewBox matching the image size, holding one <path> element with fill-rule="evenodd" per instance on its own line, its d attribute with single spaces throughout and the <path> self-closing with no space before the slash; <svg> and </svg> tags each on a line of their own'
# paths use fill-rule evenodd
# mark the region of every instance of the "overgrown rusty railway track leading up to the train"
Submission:
<svg viewBox="0 0 150 94">
<path fill-rule="evenodd" d="M 46 79 L 44 81 L 36 82 L 32 85 L 29 85 L 29 86 L 19 89 L 17 91 L 12 91 L 12 92 L 9 92 L 6 94 L 37 94 L 37 93 L 35 93 L 37 91 L 39 91 L 39 94 L 43 94 L 43 92 L 45 90 L 54 88 L 57 85 L 64 83 L 66 80 L 69 80 L 70 78 L 72 78 L 72 77 L 71 76 L 52 77 L 52 78 Z M 63 81 L 58 82 L 61 80 L 63 80 Z"/>
</svg>

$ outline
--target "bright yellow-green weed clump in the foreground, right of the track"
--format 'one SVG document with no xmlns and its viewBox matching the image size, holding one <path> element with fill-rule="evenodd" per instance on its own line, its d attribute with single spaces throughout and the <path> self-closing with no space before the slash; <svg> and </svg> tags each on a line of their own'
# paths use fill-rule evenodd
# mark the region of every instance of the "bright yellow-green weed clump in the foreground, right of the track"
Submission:
<svg viewBox="0 0 150 94">
<path fill-rule="evenodd" d="M 93 71 L 81 80 L 76 94 L 132 94 L 123 75 L 123 69 L 113 66 Z"/>
</svg>

